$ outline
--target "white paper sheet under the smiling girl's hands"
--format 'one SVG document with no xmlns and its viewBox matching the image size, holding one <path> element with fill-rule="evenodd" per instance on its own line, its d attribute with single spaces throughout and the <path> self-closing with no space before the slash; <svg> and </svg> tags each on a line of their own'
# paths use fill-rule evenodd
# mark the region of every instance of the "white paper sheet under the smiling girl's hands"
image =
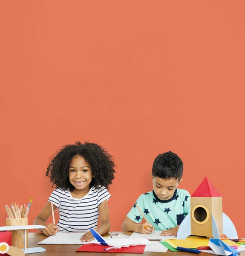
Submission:
<svg viewBox="0 0 245 256">
<path fill-rule="evenodd" d="M 89 244 L 91 242 L 95 242 L 95 240 L 92 240 L 90 242 L 82 242 L 80 238 L 84 234 L 84 232 L 58 232 L 56 235 L 49 236 L 48 238 L 40 241 L 37 244 Z"/>
</svg>

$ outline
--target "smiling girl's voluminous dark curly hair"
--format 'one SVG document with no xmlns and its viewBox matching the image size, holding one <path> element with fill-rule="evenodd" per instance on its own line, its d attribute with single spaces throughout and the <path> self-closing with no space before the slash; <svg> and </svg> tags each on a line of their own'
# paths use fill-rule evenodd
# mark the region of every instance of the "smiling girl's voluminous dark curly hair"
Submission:
<svg viewBox="0 0 245 256">
<path fill-rule="evenodd" d="M 46 176 L 53 183 L 52 187 L 69 191 L 74 189 L 69 181 L 69 166 L 75 155 L 84 157 L 91 166 L 92 175 L 95 177 L 92 177 L 90 187 L 104 186 L 108 188 L 112 184 L 115 173 L 112 156 L 98 144 L 77 141 L 75 144 L 64 145 L 50 157 Z"/>
</svg>

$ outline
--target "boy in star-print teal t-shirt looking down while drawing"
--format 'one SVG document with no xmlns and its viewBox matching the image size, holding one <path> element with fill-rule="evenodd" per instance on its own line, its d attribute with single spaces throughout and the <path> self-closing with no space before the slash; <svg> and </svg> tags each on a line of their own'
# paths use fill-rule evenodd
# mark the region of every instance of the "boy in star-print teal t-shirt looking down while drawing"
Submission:
<svg viewBox="0 0 245 256">
<path fill-rule="evenodd" d="M 177 189 L 182 181 L 183 163 L 173 152 L 159 154 L 153 163 L 153 191 L 140 195 L 136 203 L 148 222 L 140 224 L 143 216 L 133 205 L 122 224 L 123 231 L 150 234 L 162 230 L 162 236 L 177 235 L 179 225 L 190 213 L 190 194 Z"/>
</svg>

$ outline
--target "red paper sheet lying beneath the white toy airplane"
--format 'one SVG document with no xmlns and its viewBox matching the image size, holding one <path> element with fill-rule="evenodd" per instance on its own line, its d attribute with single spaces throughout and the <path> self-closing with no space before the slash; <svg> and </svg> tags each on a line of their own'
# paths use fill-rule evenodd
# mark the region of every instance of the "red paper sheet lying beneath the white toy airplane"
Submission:
<svg viewBox="0 0 245 256">
<path fill-rule="evenodd" d="M 110 249 L 110 246 L 104 246 L 100 244 L 84 244 L 82 245 L 77 252 L 93 252 L 93 253 L 144 253 L 145 245 L 135 245 L 130 247 L 121 247 L 121 249 Z"/>
</svg>

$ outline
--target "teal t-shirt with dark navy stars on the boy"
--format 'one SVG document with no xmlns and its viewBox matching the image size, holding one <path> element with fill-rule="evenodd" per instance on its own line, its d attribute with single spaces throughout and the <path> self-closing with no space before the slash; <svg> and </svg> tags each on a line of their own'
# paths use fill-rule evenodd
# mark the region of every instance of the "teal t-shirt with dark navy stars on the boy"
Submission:
<svg viewBox="0 0 245 256">
<path fill-rule="evenodd" d="M 173 197 L 168 200 L 160 200 L 153 190 L 140 195 L 136 203 L 156 230 L 176 227 L 190 213 L 190 194 L 184 189 L 176 189 Z M 141 223 L 143 219 L 135 204 L 127 217 L 135 223 Z"/>
</svg>

